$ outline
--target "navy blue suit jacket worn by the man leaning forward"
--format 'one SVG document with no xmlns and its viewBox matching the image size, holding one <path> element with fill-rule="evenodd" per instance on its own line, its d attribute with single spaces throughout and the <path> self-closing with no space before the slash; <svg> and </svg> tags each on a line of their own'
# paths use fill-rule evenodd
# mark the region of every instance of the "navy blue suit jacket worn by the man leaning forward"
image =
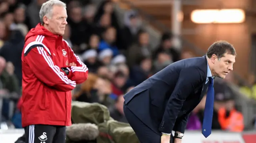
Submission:
<svg viewBox="0 0 256 143">
<path fill-rule="evenodd" d="M 208 84 L 206 57 L 184 59 L 154 74 L 124 95 L 124 104 L 156 133 L 184 133 L 190 112 Z"/>
</svg>

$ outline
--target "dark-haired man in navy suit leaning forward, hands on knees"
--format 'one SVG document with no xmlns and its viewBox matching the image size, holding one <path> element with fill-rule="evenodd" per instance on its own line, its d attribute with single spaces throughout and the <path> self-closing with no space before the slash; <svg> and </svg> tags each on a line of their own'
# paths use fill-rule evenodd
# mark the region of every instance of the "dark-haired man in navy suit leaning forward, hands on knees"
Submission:
<svg viewBox="0 0 256 143">
<path fill-rule="evenodd" d="M 190 112 L 206 91 L 202 133 L 208 137 L 214 77 L 225 78 L 233 70 L 235 57 L 236 51 L 230 43 L 217 41 L 205 56 L 172 63 L 125 94 L 124 114 L 140 142 L 181 143 Z"/>
</svg>

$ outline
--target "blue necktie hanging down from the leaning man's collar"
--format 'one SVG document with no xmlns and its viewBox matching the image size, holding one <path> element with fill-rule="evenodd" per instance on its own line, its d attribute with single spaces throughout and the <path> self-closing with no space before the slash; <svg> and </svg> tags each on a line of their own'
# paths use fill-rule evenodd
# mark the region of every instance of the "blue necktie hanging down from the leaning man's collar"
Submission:
<svg viewBox="0 0 256 143">
<path fill-rule="evenodd" d="M 208 86 L 206 102 L 204 107 L 204 121 L 202 125 L 202 134 L 204 137 L 208 137 L 212 133 L 212 116 L 213 116 L 213 105 L 214 105 L 214 88 L 213 78 L 209 77 L 210 84 Z"/>
</svg>

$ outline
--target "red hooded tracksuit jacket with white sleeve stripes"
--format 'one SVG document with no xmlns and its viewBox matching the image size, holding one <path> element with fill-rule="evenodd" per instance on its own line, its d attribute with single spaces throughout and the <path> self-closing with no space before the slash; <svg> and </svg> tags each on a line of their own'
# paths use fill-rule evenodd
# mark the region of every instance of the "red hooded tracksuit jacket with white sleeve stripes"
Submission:
<svg viewBox="0 0 256 143">
<path fill-rule="evenodd" d="M 66 75 L 60 68 L 69 67 Z M 71 90 L 88 77 L 88 68 L 62 36 L 42 25 L 31 29 L 22 52 L 22 127 L 71 125 Z"/>
</svg>

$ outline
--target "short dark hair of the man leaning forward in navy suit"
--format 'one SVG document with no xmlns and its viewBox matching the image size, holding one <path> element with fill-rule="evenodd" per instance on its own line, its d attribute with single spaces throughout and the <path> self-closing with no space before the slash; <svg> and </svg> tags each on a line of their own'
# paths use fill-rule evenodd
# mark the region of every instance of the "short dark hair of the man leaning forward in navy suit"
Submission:
<svg viewBox="0 0 256 143">
<path fill-rule="evenodd" d="M 224 57 L 225 53 L 236 56 L 236 50 L 233 45 L 231 45 L 227 41 L 216 41 L 215 43 L 210 45 L 206 52 L 206 56 L 208 58 L 211 58 L 212 55 L 215 54 L 218 59 L 220 59 L 221 57 Z"/>
</svg>

